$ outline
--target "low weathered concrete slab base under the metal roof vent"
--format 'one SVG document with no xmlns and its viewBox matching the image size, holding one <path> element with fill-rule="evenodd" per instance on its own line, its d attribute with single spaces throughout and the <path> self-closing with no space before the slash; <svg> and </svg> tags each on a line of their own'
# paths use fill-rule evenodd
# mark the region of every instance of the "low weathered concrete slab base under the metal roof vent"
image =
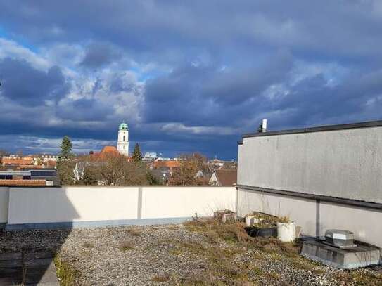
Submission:
<svg viewBox="0 0 382 286">
<path fill-rule="evenodd" d="M 335 268 L 352 269 L 381 263 L 381 249 L 355 241 L 356 247 L 341 249 L 317 240 L 303 242 L 301 255 Z"/>
</svg>

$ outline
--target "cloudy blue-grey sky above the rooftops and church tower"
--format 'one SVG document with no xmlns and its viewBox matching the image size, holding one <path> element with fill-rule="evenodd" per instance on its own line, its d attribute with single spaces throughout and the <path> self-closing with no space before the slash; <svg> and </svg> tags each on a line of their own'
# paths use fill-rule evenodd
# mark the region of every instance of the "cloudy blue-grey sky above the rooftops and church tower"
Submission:
<svg viewBox="0 0 382 286">
<path fill-rule="evenodd" d="M 0 0 L 0 149 L 236 159 L 269 130 L 382 119 L 382 1 Z"/>
</svg>

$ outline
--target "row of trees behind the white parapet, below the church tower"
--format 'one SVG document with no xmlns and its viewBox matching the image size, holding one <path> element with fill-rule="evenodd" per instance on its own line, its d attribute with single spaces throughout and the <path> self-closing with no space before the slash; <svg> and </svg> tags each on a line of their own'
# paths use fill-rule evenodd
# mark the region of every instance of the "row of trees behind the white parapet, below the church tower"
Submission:
<svg viewBox="0 0 382 286">
<path fill-rule="evenodd" d="M 155 169 L 150 169 L 149 164 L 142 161 L 138 143 L 131 159 L 114 152 L 101 157 L 75 156 L 68 136 L 64 136 L 60 148 L 57 170 L 61 185 L 207 185 L 215 170 L 199 153 L 180 155 L 177 158 L 179 167 L 173 168 L 164 180 Z"/>
</svg>

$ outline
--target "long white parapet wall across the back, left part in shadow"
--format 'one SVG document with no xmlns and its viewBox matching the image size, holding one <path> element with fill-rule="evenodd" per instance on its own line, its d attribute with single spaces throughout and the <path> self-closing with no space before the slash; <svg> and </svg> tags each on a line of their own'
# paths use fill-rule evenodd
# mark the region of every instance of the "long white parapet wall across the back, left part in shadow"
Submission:
<svg viewBox="0 0 382 286">
<path fill-rule="evenodd" d="M 10 188 L 6 228 L 177 223 L 235 205 L 234 186 Z"/>
</svg>

